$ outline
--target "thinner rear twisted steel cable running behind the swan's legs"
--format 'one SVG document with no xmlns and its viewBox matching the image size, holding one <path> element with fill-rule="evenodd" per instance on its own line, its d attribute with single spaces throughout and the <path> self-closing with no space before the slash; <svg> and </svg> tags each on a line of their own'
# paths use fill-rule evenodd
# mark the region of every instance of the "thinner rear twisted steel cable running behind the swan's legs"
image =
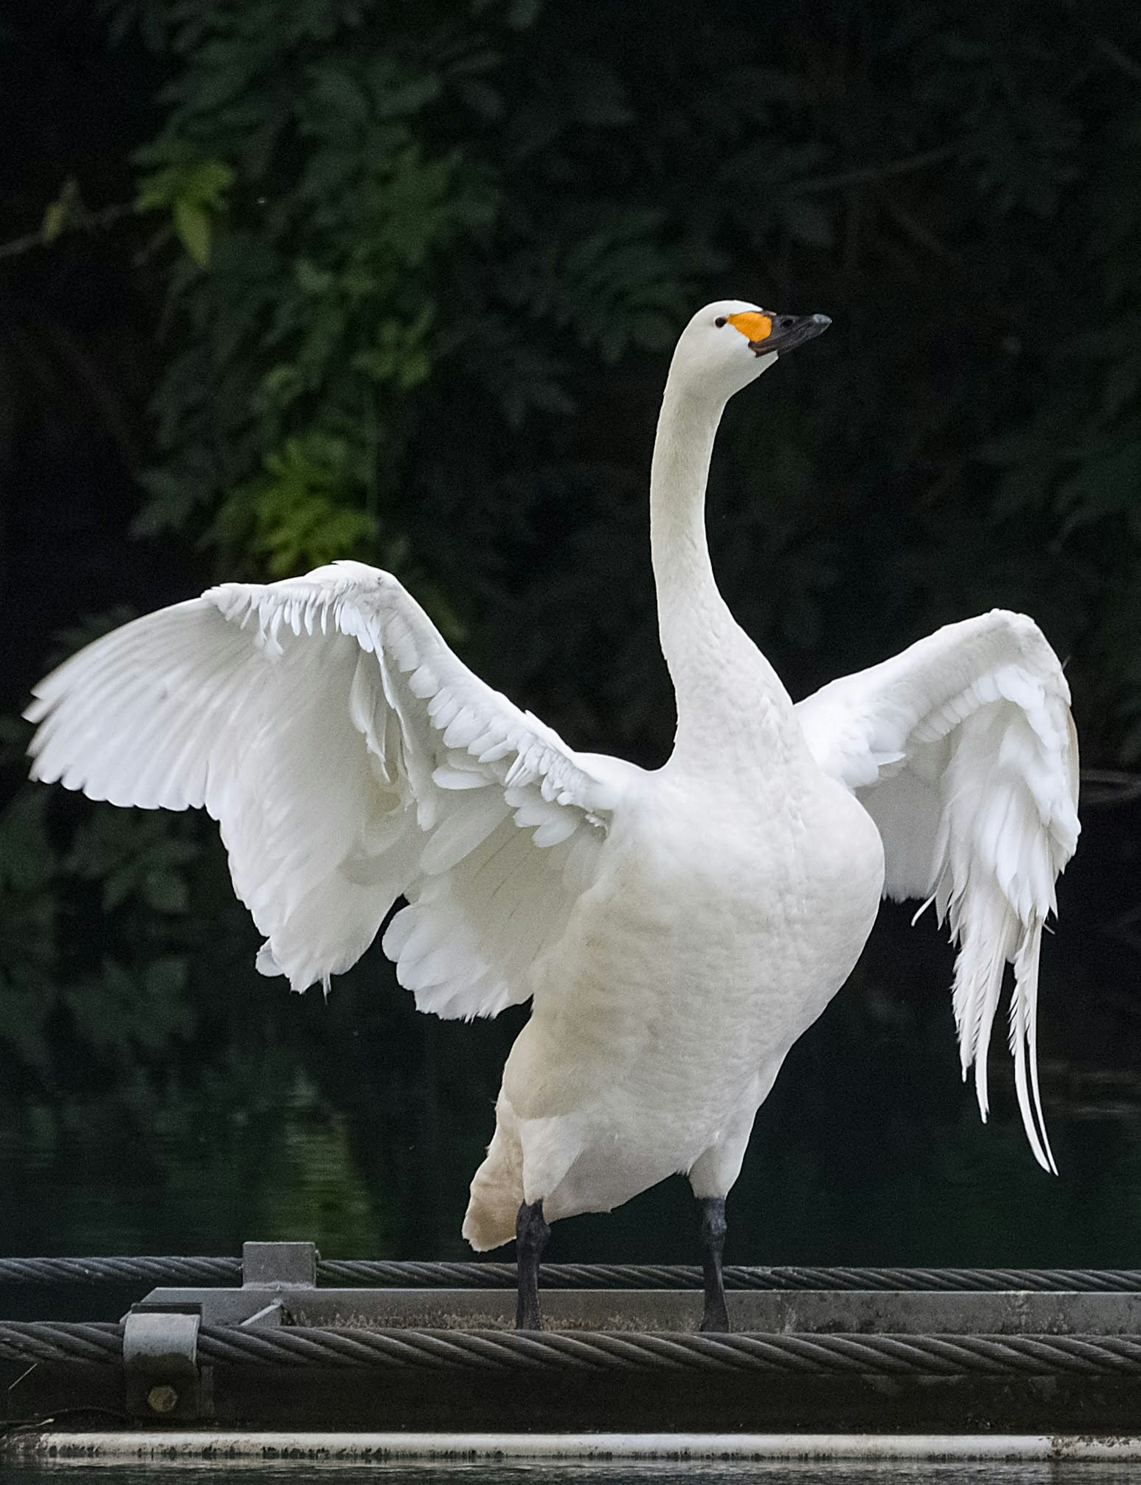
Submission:
<svg viewBox="0 0 1141 1485">
<path fill-rule="evenodd" d="M 511 1289 L 514 1264 L 321 1259 L 318 1280 L 395 1289 Z M 238 1258 L 0 1258 L 10 1285 L 239 1285 Z M 544 1264 L 545 1289 L 700 1289 L 689 1264 Z M 726 1289 L 1068 1290 L 1141 1292 L 1137 1268 L 725 1268 Z"/>
</svg>

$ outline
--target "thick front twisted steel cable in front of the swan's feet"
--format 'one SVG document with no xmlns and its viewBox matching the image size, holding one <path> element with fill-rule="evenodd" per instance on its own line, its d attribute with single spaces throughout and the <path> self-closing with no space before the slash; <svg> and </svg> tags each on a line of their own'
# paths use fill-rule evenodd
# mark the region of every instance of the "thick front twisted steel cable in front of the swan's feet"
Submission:
<svg viewBox="0 0 1141 1485">
<path fill-rule="evenodd" d="M 122 1362 L 120 1325 L 0 1325 L 0 1359 Z M 429 1371 L 796 1372 L 924 1377 L 1141 1375 L 1126 1335 L 689 1335 L 637 1332 L 253 1331 L 202 1326 L 202 1362 Z"/>
</svg>

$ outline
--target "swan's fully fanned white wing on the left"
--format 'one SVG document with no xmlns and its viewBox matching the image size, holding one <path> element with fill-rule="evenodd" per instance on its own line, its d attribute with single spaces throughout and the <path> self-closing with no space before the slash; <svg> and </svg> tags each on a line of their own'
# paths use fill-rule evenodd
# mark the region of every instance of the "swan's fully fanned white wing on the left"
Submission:
<svg viewBox="0 0 1141 1485">
<path fill-rule="evenodd" d="M 259 968 L 327 982 L 403 892 L 383 947 L 440 1016 L 529 996 L 636 772 L 579 759 L 361 563 L 211 588 L 97 640 L 34 693 L 34 778 L 220 823 L 266 936 Z"/>
</svg>

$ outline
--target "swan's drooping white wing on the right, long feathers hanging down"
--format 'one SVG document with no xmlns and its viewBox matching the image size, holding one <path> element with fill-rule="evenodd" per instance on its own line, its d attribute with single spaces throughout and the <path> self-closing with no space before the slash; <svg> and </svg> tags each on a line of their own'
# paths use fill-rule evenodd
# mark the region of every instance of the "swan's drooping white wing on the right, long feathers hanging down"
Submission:
<svg viewBox="0 0 1141 1485">
<path fill-rule="evenodd" d="M 1013 962 L 1018 1102 L 1047 1170 L 1055 1167 L 1038 1097 L 1036 1005 L 1041 927 L 1079 832 L 1068 702 L 1062 667 L 1038 627 L 995 609 L 796 707 L 817 763 L 880 827 L 885 895 L 934 898 L 940 922 L 949 918 L 963 1077 L 975 1063 L 984 1118 L 986 1047 Z"/>
</svg>

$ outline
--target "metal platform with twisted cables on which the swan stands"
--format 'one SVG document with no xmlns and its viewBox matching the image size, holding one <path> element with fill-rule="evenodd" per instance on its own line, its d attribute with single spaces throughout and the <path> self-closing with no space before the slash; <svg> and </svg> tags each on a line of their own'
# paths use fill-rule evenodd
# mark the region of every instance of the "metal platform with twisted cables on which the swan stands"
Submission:
<svg viewBox="0 0 1141 1485">
<path fill-rule="evenodd" d="M 40 1261 L 10 1262 L 24 1265 L 27 1282 L 42 1273 Z M 70 1262 L 97 1279 L 104 1261 Z M 163 1262 L 180 1274 L 211 1264 L 211 1273 L 232 1271 L 214 1259 L 137 1262 L 150 1276 Z M 131 1267 L 105 1264 L 117 1265 L 117 1280 Z M 752 1445 L 762 1451 L 784 1448 L 771 1442 L 784 1436 L 872 1436 L 885 1451 L 893 1437 L 918 1449 L 926 1436 L 1015 1435 L 1125 1437 L 1114 1457 L 1134 1448 L 1135 1271 L 1018 1274 L 1027 1287 L 1003 1289 L 994 1273 L 738 1270 L 728 1295 L 734 1329 L 719 1336 L 697 1332 L 697 1289 L 559 1287 L 582 1273 L 544 1271 L 556 1285 L 542 1289 L 545 1328 L 520 1334 L 511 1329 L 514 1292 L 481 1283 L 502 1280 L 504 1265 L 438 1265 L 446 1287 L 392 1286 L 432 1265 L 371 1267 L 386 1287 L 318 1287 L 311 1243 L 248 1243 L 241 1286 L 155 1287 L 119 1322 L 0 1323 L 7 1418 L 143 1430 L 116 1435 L 128 1454 L 155 1429 L 190 1440 L 186 1448 L 209 1448 L 235 1430 L 245 1439 L 343 1430 L 358 1440 L 403 1439 L 400 1448 L 416 1437 L 568 1433 L 732 1435 L 768 1439 Z M 813 1274 L 822 1287 L 805 1287 Z M 884 1274 L 899 1287 L 841 1286 Z M 688 1270 L 618 1277 L 660 1286 L 685 1283 Z M 7 1446 L 64 1446 L 62 1435 L 37 1437 L 15 1430 Z M 83 1437 L 95 1448 L 95 1433 Z"/>
</svg>

